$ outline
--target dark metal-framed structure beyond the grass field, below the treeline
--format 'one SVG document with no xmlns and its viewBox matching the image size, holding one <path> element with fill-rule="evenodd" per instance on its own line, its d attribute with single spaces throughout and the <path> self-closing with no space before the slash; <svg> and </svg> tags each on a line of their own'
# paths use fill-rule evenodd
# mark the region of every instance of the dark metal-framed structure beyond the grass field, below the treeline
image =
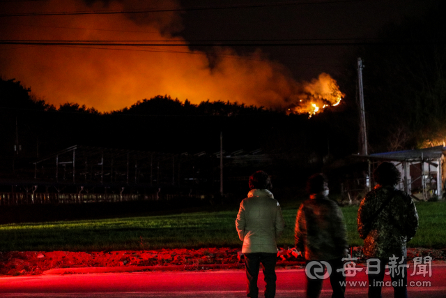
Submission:
<svg viewBox="0 0 446 298">
<path fill-rule="evenodd" d="M 34 179 L 72 184 L 178 185 L 181 165 L 197 157 L 75 145 L 33 162 Z"/>
</svg>

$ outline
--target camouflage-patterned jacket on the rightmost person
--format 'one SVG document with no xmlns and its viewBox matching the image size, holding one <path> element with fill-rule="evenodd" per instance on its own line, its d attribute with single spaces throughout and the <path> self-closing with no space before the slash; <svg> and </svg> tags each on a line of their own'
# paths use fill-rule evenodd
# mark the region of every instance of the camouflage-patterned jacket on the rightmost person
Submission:
<svg viewBox="0 0 446 298">
<path fill-rule="evenodd" d="M 376 218 L 380 206 L 390 200 Z M 418 214 L 412 198 L 393 186 L 376 186 L 365 195 L 357 211 L 357 231 L 369 258 L 406 257 L 407 242 L 415 236 Z"/>
</svg>

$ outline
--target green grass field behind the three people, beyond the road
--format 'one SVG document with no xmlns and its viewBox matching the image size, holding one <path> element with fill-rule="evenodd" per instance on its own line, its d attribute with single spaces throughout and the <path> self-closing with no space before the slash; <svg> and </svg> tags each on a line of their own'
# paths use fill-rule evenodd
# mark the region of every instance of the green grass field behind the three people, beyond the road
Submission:
<svg viewBox="0 0 446 298">
<path fill-rule="evenodd" d="M 297 205 L 283 208 L 286 230 L 279 246 L 292 246 Z M 351 246 L 357 206 L 343 207 Z M 446 202 L 417 202 L 420 228 L 411 247 L 446 246 Z M 237 210 L 168 216 L 112 218 L 0 225 L 0 251 L 115 251 L 156 248 L 241 246 L 235 228 Z"/>
</svg>

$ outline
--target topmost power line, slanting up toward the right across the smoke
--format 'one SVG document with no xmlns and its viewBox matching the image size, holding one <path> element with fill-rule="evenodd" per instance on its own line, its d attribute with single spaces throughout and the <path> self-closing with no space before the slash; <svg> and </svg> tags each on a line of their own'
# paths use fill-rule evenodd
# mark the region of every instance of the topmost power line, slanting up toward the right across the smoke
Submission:
<svg viewBox="0 0 446 298">
<path fill-rule="evenodd" d="M 186 12 L 194 10 L 222 10 L 234 8 L 264 8 L 274 6 L 303 6 L 311 4 L 330 4 L 330 3 L 350 3 L 369 0 L 337 0 L 337 1 L 289 1 L 277 3 L 259 3 L 259 4 L 237 4 L 228 6 L 197 6 L 192 8 L 161 8 L 161 9 L 145 9 L 145 10 L 91 10 L 91 11 L 66 11 L 55 13 L 3 13 L 0 17 L 29 17 L 29 16 L 48 16 L 48 15 L 117 15 L 117 14 L 134 14 L 134 13 L 171 13 L 171 12 Z"/>
</svg>

